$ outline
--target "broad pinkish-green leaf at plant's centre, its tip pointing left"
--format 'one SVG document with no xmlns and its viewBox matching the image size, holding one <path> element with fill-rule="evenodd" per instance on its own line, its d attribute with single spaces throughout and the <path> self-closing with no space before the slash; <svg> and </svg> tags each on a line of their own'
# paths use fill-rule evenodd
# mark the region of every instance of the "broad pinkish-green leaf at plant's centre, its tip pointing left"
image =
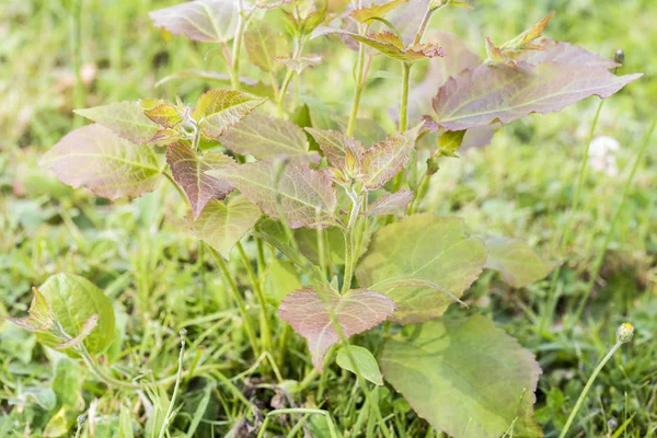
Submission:
<svg viewBox="0 0 657 438">
<path fill-rule="evenodd" d="M 277 162 L 257 161 L 208 173 L 238 187 L 267 215 L 284 214 L 291 228 L 327 227 L 337 205 L 331 178 L 295 164 L 280 168 Z"/>
</svg>

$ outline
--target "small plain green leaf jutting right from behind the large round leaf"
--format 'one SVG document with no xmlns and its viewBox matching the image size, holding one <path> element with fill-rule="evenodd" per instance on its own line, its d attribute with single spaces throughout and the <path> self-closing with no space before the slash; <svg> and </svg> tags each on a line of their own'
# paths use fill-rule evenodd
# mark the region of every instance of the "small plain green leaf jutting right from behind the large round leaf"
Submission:
<svg viewBox="0 0 657 438">
<path fill-rule="evenodd" d="M 486 267 L 498 270 L 512 287 L 525 287 L 552 272 L 555 263 L 543 261 L 527 243 L 509 238 L 487 238 Z"/>
</svg>

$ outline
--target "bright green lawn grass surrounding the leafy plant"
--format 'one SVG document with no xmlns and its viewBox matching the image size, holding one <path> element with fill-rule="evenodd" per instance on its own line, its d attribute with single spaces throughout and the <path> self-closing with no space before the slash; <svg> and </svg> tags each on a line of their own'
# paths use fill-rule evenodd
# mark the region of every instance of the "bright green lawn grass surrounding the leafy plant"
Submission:
<svg viewBox="0 0 657 438">
<path fill-rule="evenodd" d="M 173 187 L 164 185 L 134 201 L 110 204 L 61 185 L 36 164 L 67 130 L 83 123 L 72 117 L 76 99 L 93 106 L 145 96 L 172 99 L 177 93 L 191 102 L 206 88 L 217 87 L 199 80 L 154 87 L 176 71 L 224 68 L 211 47 L 176 37 L 166 42 L 152 27 L 148 11 L 174 3 L 84 1 L 81 60 L 90 79 L 82 95 L 74 92 L 71 67 L 74 1 L 0 4 L 0 314 L 24 313 L 31 287 L 53 274 L 87 277 L 115 306 L 115 343 L 107 356 L 128 380 L 174 374 L 178 332 L 185 328 L 186 374 L 171 436 L 252 436 L 249 430 L 262 424 L 264 414 L 284 407 L 299 411 L 270 417 L 268 436 L 330 436 L 327 418 L 350 436 L 380 436 L 374 410 L 366 404 L 354 374 L 332 366 L 318 376 L 306 343 L 280 319 L 273 316 L 269 322 L 275 357 L 253 354 L 238 306 L 210 252 L 184 230 L 186 208 Z M 620 174 L 589 171 L 573 221 L 573 240 L 564 253 L 561 240 L 597 100 L 558 114 L 531 116 L 500 129 L 489 147 L 443 162 L 423 209 L 459 215 L 473 233 L 517 237 L 546 258 L 563 263 L 556 295 L 551 293 L 551 278 L 512 289 L 487 273 L 465 296 L 470 309 L 450 312 L 489 315 L 537 355 L 543 369 L 537 414 L 548 437 L 558 436 L 588 376 L 614 344 L 615 328 L 632 322 L 634 339 L 602 370 L 572 431 L 583 437 L 654 436 L 657 274 L 649 275 L 657 266 L 654 147 L 638 168 L 583 318 L 573 322 L 569 316 L 586 290 L 642 136 L 655 117 L 657 3 L 545 0 L 528 5 L 521 0 L 482 0 L 475 5 L 468 13 L 448 11 L 434 26 L 464 36 L 481 53 L 480 30 L 504 41 L 554 9 L 557 15 L 550 33 L 604 56 L 622 47 L 623 70 L 643 71 L 645 78 L 602 108 L 596 135 L 620 141 Z M 330 54 L 333 66 L 341 67 L 331 74 L 325 67 L 312 70 L 320 78 L 313 80 L 318 85 L 304 88 L 299 99 L 327 102 L 327 111 L 347 113 L 353 84 L 345 78 L 351 77 L 354 54 L 336 51 L 335 45 L 316 49 Z M 377 79 L 365 92 L 364 115 L 392 130 L 394 99 L 385 101 L 380 91 L 391 87 L 394 80 L 388 78 L 401 71 L 377 59 L 372 74 Z M 243 245 L 255 255 L 252 241 Z M 228 268 L 252 319 L 257 320 L 260 303 L 244 264 L 233 256 Z M 272 278 L 268 286 L 273 293 L 285 293 L 289 285 Z M 376 330 L 354 342 L 372 347 L 381 335 Z M 61 359 L 38 346 L 33 335 L 0 322 L 0 437 L 36 436 L 48 422 L 53 424 L 53 393 L 81 397 L 74 416 L 87 413 L 91 418 L 81 436 L 92 436 L 93 425 L 95 437 L 128 437 L 125 430 L 132 428 L 135 436 L 157 437 L 172 391 L 173 385 L 148 391 L 106 387 L 81 362 Z M 441 436 L 390 387 L 376 389 L 371 396 L 395 436 Z M 303 427 L 295 427 L 301 423 Z M 614 435 L 621 425 L 625 427 Z M 68 434 L 74 431 L 73 426 Z"/>
</svg>

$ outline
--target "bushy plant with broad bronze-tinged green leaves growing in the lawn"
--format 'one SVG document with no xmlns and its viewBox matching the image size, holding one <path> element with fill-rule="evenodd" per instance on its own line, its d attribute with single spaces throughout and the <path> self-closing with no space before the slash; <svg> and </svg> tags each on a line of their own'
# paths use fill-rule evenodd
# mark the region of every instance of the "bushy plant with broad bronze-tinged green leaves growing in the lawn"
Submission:
<svg viewBox="0 0 657 438">
<path fill-rule="evenodd" d="M 412 324 L 385 342 L 379 362 L 419 415 L 457 437 L 497 437 L 511 425 L 511 435 L 538 436 L 531 412 L 540 370 L 533 357 L 484 318 L 439 318 L 450 304 L 462 303 L 484 268 L 523 287 L 546 276 L 554 264 L 520 241 L 469 235 L 456 217 L 419 214 L 391 221 L 391 215 L 412 211 L 416 196 L 413 184 L 391 181 L 405 169 L 417 169 L 411 159 L 427 128 L 440 134 L 431 151 L 437 160 L 476 143 L 492 126 L 560 111 L 591 95 L 607 97 L 638 76 L 616 77 L 609 71 L 614 62 L 542 37 L 552 15 L 503 45 L 487 41 L 489 58 L 482 62 L 453 35 L 429 33 L 428 43 L 422 43 L 417 32 L 425 12 L 430 16 L 463 2 L 366 3 L 341 13 L 326 2 L 258 0 L 240 12 L 232 0 L 195 0 L 151 18 L 159 27 L 199 42 L 226 45 L 243 36 L 249 60 L 274 79 L 285 67 L 288 83 L 292 73 L 319 62 L 300 50 L 311 34 L 341 34 L 407 68 L 428 59 L 426 79 L 410 95 L 414 127 L 408 130 L 369 145 L 310 117 L 293 123 L 266 114 L 257 107 L 269 91 L 255 95 L 220 89 L 203 94 L 195 107 L 178 100 L 78 111 L 95 124 L 67 135 L 42 163 L 65 183 L 108 198 L 142 195 L 169 176 L 189 203 L 189 231 L 223 257 L 254 230 L 255 239 L 289 258 L 291 264 L 274 260 L 269 265 L 269 272 L 287 278 L 283 287 L 289 292 L 274 301 L 280 302 L 280 316 L 307 338 L 318 370 L 326 351 L 354 334 L 387 320 Z M 278 8 L 297 43 L 293 54 L 279 30 L 256 19 Z M 321 26 L 331 13 L 343 19 L 343 28 Z M 237 81 L 249 90 L 260 83 L 244 82 Z M 430 174 L 430 162 L 428 168 Z M 343 274 L 342 288 L 337 278 L 328 284 L 321 263 Z M 295 269 L 310 280 L 303 285 Z M 31 316 L 16 322 L 47 332 L 50 310 L 57 310 L 35 297 Z M 83 336 L 95 349 L 92 341 L 100 331 L 91 325 L 107 320 L 91 319 L 81 332 L 78 325 L 68 342 Z M 367 349 L 345 345 L 337 358 L 342 367 L 366 370 L 368 380 L 382 383 Z"/>
</svg>

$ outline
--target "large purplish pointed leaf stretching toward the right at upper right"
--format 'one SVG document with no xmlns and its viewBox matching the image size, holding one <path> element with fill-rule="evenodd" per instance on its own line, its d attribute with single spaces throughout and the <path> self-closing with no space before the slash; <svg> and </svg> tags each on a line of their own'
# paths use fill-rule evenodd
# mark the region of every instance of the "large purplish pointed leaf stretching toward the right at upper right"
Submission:
<svg viewBox="0 0 657 438">
<path fill-rule="evenodd" d="M 557 112 L 591 95 L 609 97 L 641 76 L 616 77 L 604 68 L 554 61 L 518 69 L 482 65 L 438 90 L 430 125 L 462 130 Z"/>
</svg>

